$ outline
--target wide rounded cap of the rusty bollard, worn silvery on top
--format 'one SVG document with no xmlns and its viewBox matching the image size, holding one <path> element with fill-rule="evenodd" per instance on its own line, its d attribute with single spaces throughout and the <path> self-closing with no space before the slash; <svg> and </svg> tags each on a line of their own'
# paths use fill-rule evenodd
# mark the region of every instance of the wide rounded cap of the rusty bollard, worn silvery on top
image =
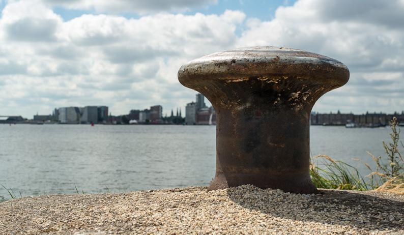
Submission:
<svg viewBox="0 0 404 235">
<path fill-rule="evenodd" d="M 333 58 L 284 47 L 243 47 L 216 52 L 183 65 L 179 81 L 188 87 L 196 80 L 243 81 L 257 78 L 307 80 L 308 83 L 342 86 L 348 82 L 347 66 Z M 195 80 L 196 79 L 196 80 Z"/>
</svg>

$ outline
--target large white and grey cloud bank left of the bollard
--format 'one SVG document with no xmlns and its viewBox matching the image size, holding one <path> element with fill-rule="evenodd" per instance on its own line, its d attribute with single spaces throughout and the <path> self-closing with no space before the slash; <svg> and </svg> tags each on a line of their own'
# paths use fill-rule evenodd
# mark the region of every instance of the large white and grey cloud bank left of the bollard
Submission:
<svg viewBox="0 0 404 235">
<path fill-rule="evenodd" d="M 165 111 L 184 106 L 194 91 L 178 83 L 178 68 L 194 57 L 232 48 L 244 19 L 242 12 L 225 11 L 139 19 L 87 14 L 63 21 L 39 1 L 9 2 L 0 19 L 5 29 L 0 100 L 7 101 L 2 112 L 15 113 L 18 107 L 31 117 L 54 107 L 108 105 L 114 114 L 124 114 L 154 104 Z M 49 24 L 52 20 L 56 23 Z M 38 26 L 12 34 L 15 22 L 22 22 L 21 28 L 44 22 L 39 26 L 51 30 Z"/>
</svg>

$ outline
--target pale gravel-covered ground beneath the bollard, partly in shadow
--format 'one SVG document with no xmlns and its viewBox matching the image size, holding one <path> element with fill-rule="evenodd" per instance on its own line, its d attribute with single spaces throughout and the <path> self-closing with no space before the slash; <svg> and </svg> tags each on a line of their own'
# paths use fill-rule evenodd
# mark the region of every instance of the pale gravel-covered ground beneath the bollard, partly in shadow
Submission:
<svg viewBox="0 0 404 235">
<path fill-rule="evenodd" d="M 48 195 L 0 203 L 0 234 L 404 234 L 404 195 L 245 185 Z"/>
</svg>

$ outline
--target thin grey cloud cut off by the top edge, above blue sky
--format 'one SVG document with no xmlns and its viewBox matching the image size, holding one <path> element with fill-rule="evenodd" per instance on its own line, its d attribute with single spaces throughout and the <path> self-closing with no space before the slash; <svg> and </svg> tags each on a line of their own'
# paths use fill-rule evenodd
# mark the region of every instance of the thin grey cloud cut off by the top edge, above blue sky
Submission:
<svg viewBox="0 0 404 235">
<path fill-rule="evenodd" d="M 217 0 L 43 0 L 51 6 L 63 6 L 71 9 L 95 10 L 97 12 L 140 14 L 162 11 L 187 11 L 194 7 L 216 4 Z"/>
</svg>

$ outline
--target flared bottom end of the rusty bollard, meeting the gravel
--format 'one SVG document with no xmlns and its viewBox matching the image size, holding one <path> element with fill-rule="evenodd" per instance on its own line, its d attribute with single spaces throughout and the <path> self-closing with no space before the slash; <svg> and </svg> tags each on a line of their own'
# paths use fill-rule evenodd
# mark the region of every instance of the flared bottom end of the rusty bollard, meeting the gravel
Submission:
<svg viewBox="0 0 404 235">
<path fill-rule="evenodd" d="M 271 175 L 271 174 L 216 174 L 208 191 L 226 189 L 241 185 L 254 185 L 262 189 L 280 189 L 284 192 L 317 194 L 319 191 L 311 182 L 309 175 Z"/>
</svg>

